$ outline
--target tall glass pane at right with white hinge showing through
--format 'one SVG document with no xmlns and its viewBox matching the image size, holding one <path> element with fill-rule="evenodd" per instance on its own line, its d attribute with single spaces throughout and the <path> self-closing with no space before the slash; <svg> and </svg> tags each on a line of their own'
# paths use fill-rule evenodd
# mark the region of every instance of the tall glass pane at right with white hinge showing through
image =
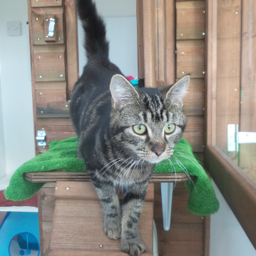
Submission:
<svg viewBox="0 0 256 256">
<path fill-rule="evenodd" d="M 216 145 L 256 183 L 256 1 L 218 0 L 217 22 Z"/>
</svg>

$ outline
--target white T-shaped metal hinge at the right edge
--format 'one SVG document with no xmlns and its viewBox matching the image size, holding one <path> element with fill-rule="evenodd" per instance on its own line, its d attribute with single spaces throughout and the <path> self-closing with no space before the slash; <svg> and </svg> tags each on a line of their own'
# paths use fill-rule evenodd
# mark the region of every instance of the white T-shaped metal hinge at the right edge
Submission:
<svg viewBox="0 0 256 256">
<path fill-rule="evenodd" d="M 238 151 L 238 144 L 256 143 L 256 133 L 238 132 L 238 125 L 227 125 L 227 151 Z"/>
</svg>

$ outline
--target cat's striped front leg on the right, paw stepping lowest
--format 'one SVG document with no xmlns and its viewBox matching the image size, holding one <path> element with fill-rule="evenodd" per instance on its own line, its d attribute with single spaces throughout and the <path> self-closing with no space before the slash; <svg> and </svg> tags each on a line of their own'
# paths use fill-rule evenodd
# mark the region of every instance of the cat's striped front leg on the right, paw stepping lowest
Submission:
<svg viewBox="0 0 256 256">
<path fill-rule="evenodd" d="M 140 255 L 145 252 L 145 245 L 140 239 L 138 221 L 147 188 L 148 182 L 135 183 L 123 191 L 121 249 L 129 255 Z"/>
</svg>

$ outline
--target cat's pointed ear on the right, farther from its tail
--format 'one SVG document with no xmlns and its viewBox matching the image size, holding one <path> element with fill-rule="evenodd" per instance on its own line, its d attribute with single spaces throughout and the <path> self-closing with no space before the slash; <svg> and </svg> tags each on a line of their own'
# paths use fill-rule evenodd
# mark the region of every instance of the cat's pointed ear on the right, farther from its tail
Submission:
<svg viewBox="0 0 256 256">
<path fill-rule="evenodd" d="M 183 107 L 183 99 L 188 90 L 190 82 L 190 75 L 184 76 L 177 83 L 175 83 L 166 93 L 165 99 L 171 104 Z"/>
</svg>

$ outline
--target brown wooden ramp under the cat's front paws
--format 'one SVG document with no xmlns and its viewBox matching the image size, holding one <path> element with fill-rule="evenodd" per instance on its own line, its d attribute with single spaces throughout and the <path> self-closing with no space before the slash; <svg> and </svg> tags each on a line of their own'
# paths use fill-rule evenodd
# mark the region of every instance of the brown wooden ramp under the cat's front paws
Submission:
<svg viewBox="0 0 256 256">
<path fill-rule="evenodd" d="M 55 197 L 48 255 L 61 255 L 63 250 L 71 252 L 69 255 L 127 255 L 121 252 L 120 240 L 111 240 L 103 232 L 101 202 L 93 184 L 57 182 Z M 153 184 L 148 185 L 139 227 L 147 253 L 153 253 Z"/>
</svg>

